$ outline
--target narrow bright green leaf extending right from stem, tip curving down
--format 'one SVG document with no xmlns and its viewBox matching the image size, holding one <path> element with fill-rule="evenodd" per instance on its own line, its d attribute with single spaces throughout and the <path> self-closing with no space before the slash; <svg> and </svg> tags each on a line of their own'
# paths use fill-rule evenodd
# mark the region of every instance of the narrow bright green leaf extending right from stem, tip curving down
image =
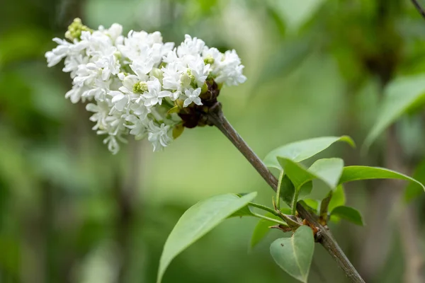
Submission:
<svg viewBox="0 0 425 283">
<path fill-rule="evenodd" d="M 422 190 L 425 190 L 424 185 L 419 183 L 414 178 L 410 178 L 407 175 L 392 171 L 390 169 L 380 167 L 368 167 L 368 166 L 346 166 L 342 171 L 339 183 L 346 183 L 355 180 L 370 180 L 370 179 L 399 179 L 413 182 L 415 185 L 419 185 Z"/>
</svg>

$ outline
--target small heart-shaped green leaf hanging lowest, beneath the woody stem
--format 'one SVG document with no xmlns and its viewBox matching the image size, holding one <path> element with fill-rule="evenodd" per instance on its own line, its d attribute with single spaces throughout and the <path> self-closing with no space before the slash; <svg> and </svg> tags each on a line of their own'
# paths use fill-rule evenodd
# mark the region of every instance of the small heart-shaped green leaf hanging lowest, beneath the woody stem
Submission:
<svg viewBox="0 0 425 283">
<path fill-rule="evenodd" d="M 314 236 L 309 226 L 300 226 L 291 238 L 279 238 L 270 246 L 273 260 L 301 282 L 307 282 L 314 252 Z"/>
</svg>

